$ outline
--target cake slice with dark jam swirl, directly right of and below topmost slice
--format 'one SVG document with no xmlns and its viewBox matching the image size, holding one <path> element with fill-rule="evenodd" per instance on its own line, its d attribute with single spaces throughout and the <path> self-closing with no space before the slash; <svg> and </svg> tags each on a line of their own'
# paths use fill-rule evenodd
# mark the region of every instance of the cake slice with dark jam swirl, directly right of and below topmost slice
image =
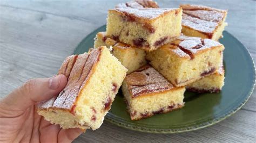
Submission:
<svg viewBox="0 0 256 143">
<path fill-rule="evenodd" d="M 217 41 L 181 36 L 149 52 L 152 67 L 175 86 L 184 86 L 215 73 L 223 62 L 224 46 Z"/>
</svg>

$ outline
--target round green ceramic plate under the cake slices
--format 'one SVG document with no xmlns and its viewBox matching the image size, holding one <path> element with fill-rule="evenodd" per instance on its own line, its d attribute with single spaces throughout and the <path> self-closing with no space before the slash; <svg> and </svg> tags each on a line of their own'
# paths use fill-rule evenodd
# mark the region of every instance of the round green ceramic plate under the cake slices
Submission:
<svg viewBox="0 0 256 143">
<path fill-rule="evenodd" d="M 87 35 L 77 46 L 75 54 L 87 52 L 93 47 L 99 27 Z M 106 120 L 131 130 L 150 133 L 178 133 L 197 130 L 213 125 L 231 116 L 246 103 L 254 88 L 254 64 L 246 47 L 230 33 L 224 31 L 220 42 L 225 46 L 224 66 L 225 85 L 219 94 L 195 94 L 185 92 L 184 108 L 162 115 L 132 121 L 126 111 L 122 91 L 116 96 Z"/>
</svg>

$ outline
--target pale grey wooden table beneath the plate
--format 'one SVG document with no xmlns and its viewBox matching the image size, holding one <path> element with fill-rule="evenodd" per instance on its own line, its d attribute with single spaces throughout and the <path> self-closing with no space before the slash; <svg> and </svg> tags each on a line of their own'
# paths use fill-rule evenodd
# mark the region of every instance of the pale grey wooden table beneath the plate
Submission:
<svg viewBox="0 0 256 143">
<path fill-rule="evenodd" d="M 1 1 L 0 97 L 29 78 L 57 73 L 66 56 L 87 34 L 106 23 L 107 9 L 118 1 Z M 256 59 L 254 1 L 159 1 L 161 7 L 180 3 L 228 9 L 226 30 L 237 37 Z M 179 134 L 150 134 L 107 123 L 88 130 L 75 142 L 256 141 L 256 93 L 231 117 L 201 130 Z"/>
</svg>

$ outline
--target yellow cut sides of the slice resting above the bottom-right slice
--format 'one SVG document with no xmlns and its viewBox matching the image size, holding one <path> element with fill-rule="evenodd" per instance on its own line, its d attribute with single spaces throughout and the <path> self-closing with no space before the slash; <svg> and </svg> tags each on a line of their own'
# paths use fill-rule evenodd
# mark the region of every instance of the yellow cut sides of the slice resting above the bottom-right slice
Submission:
<svg viewBox="0 0 256 143">
<path fill-rule="evenodd" d="M 199 80 L 204 72 L 219 69 L 222 62 L 224 46 L 198 51 L 193 55 L 193 59 L 173 52 L 176 48 L 178 47 L 173 45 L 162 46 L 146 56 L 152 67 L 176 86 L 184 86 Z"/>
</svg>

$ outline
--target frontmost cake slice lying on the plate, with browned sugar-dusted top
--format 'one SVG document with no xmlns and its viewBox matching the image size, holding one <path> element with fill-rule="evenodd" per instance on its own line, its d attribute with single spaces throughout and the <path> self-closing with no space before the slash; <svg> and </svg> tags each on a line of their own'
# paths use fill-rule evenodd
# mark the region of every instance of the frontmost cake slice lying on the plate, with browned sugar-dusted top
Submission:
<svg viewBox="0 0 256 143">
<path fill-rule="evenodd" d="M 174 87 L 148 65 L 127 75 L 122 91 L 132 120 L 170 112 L 184 106 L 185 87 Z"/>
</svg>

